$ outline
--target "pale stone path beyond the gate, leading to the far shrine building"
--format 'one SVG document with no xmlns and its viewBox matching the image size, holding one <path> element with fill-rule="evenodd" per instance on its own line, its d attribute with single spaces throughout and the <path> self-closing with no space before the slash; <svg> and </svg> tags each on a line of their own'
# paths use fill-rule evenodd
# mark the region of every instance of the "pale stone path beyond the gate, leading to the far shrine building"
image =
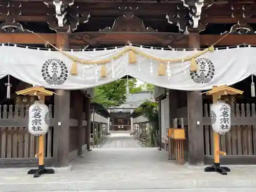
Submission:
<svg viewBox="0 0 256 192">
<path fill-rule="evenodd" d="M 111 136 L 102 145 L 102 148 L 134 148 L 141 145 L 130 136 L 130 132 L 111 132 Z"/>
</svg>

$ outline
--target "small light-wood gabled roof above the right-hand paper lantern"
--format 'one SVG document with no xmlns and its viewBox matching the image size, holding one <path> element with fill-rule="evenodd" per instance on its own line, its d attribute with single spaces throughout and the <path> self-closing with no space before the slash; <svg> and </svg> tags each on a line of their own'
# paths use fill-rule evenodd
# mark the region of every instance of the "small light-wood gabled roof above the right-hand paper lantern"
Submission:
<svg viewBox="0 0 256 192">
<path fill-rule="evenodd" d="M 243 94 L 243 91 L 240 91 L 238 89 L 234 89 L 231 87 L 228 87 L 226 85 L 224 86 L 219 86 L 219 87 L 213 87 L 212 90 L 205 92 L 206 95 L 236 95 L 236 94 Z"/>
</svg>

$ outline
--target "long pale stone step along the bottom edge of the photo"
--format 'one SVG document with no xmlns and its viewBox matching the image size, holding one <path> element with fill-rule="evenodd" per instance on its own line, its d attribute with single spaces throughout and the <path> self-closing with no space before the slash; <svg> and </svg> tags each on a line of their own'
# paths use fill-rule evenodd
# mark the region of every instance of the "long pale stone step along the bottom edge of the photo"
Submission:
<svg viewBox="0 0 256 192">
<path fill-rule="evenodd" d="M 59 181 L 59 182 L 49 182 L 47 181 L 47 176 L 42 176 L 41 178 L 31 178 L 30 182 L 23 183 L 0 183 L 1 192 L 36 192 L 36 191 L 93 191 L 97 190 L 114 192 L 117 189 L 119 191 L 143 191 L 142 189 L 147 189 L 147 192 L 152 191 L 156 192 L 165 191 L 163 189 L 168 189 L 171 192 L 171 189 L 179 189 L 177 191 L 197 191 L 203 192 L 204 188 L 207 188 L 206 191 L 218 191 L 218 192 L 236 192 L 243 191 L 242 188 L 249 188 L 248 191 L 256 191 L 256 180 L 255 179 L 225 179 L 225 176 L 221 176 L 217 180 L 192 180 L 192 179 L 183 179 L 183 180 L 122 180 L 122 181 Z M 75 176 L 74 176 L 75 177 Z M 223 178 L 223 179 L 221 179 Z M 47 182 L 46 182 L 47 181 Z M 224 188 L 224 189 L 221 189 Z M 121 190 L 122 189 L 122 190 Z M 141 190 L 140 190 L 141 189 Z M 161 190 L 160 190 L 161 189 Z M 188 190 L 189 189 L 189 190 Z M 220 190 L 221 189 L 221 190 Z M 234 190 L 236 189 L 236 190 Z M 240 190 L 239 190 L 240 189 Z M 205 192 L 206 192 L 205 191 Z M 144 192 L 144 191 L 143 191 Z"/>
</svg>

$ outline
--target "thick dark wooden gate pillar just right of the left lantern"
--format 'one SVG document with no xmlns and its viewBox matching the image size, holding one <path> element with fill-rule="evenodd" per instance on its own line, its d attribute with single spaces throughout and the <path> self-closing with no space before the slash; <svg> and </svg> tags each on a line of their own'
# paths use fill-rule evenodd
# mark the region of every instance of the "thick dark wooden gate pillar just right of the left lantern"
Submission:
<svg viewBox="0 0 256 192">
<path fill-rule="evenodd" d="M 69 35 L 56 33 L 56 47 L 69 49 Z M 69 166 L 69 119 L 70 119 L 70 91 L 57 90 L 54 95 L 54 135 L 53 158 L 54 166 Z"/>
</svg>

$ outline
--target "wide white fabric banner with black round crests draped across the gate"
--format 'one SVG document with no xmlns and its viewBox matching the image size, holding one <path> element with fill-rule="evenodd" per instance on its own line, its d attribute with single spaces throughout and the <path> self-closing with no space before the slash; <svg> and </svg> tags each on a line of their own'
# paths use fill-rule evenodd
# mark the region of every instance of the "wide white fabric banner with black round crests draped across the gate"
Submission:
<svg viewBox="0 0 256 192">
<path fill-rule="evenodd" d="M 69 52 L 84 60 L 109 59 L 125 48 L 101 51 Z M 196 51 L 167 51 L 135 48 L 159 58 L 184 58 Z M 166 75 L 158 76 L 159 61 L 137 56 L 129 63 L 128 53 L 106 64 L 107 77 L 100 77 L 100 65 L 77 63 L 78 75 L 71 75 L 72 60 L 58 51 L 43 51 L 0 46 L 0 78 L 10 74 L 24 82 L 50 89 L 87 89 L 131 75 L 156 86 L 177 90 L 208 90 L 212 86 L 228 86 L 256 74 L 256 48 L 234 48 L 207 52 L 196 60 L 197 72 L 190 72 L 190 61 L 169 63 Z"/>
</svg>

